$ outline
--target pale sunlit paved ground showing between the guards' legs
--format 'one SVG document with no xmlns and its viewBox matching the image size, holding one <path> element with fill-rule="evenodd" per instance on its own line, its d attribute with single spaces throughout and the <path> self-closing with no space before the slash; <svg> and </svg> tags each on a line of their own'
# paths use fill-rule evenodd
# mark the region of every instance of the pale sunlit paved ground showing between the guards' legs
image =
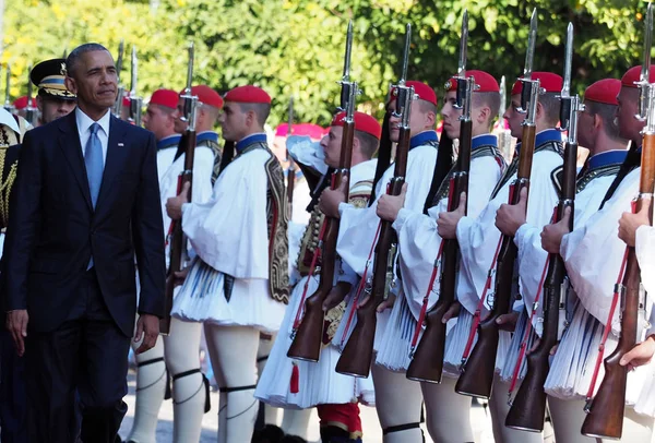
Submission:
<svg viewBox="0 0 655 443">
<path fill-rule="evenodd" d="M 123 424 L 121 427 L 120 435 L 126 438 L 132 427 L 132 420 L 134 417 L 134 388 L 135 388 L 135 374 L 133 371 L 130 371 L 129 374 L 129 388 L 130 392 L 126 402 L 129 406 L 128 415 L 123 420 Z M 205 414 L 204 419 L 202 421 L 202 438 L 201 443 L 211 443 L 216 441 L 216 430 L 218 428 L 218 417 L 217 417 L 217 405 L 218 405 L 218 394 L 212 393 L 212 410 Z M 282 414 L 282 411 L 281 411 Z M 282 418 L 282 415 L 278 414 L 278 418 Z M 380 429 L 380 424 L 378 422 L 378 416 L 376 414 L 374 408 L 362 407 L 361 408 L 361 419 L 364 423 L 364 441 L 366 443 L 380 443 L 382 442 L 382 430 Z M 477 405 L 474 402 L 474 408 L 471 415 L 471 421 L 473 423 L 473 429 L 475 432 L 476 443 L 492 443 L 493 438 L 491 436 L 491 422 L 488 414 L 485 408 Z M 310 442 L 319 442 L 319 420 L 315 415 L 315 411 L 312 414 L 310 423 L 309 423 L 309 441 Z M 425 430 L 425 428 L 424 428 Z M 172 441 L 172 404 L 170 400 L 164 402 L 162 406 L 162 410 L 159 411 L 159 423 L 157 426 L 157 443 L 169 443 Z M 426 441 L 427 443 L 432 443 L 429 439 L 426 431 Z"/>
</svg>

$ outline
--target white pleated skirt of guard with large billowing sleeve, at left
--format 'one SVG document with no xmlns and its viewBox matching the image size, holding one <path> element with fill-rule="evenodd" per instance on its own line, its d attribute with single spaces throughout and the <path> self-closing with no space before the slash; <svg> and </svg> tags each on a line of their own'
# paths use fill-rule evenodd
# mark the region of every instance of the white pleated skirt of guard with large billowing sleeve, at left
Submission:
<svg viewBox="0 0 655 443">
<path fill-rule="evenodd" d="M 253 326 L 269 333 L 279 330 L 286 306 L 271 298 L 269 280 L 235 279 L 228 301 L 224 278 L 223 273 L 196 258 L 174 300 L 171 315 L 223 326 Z"/>
</svg>

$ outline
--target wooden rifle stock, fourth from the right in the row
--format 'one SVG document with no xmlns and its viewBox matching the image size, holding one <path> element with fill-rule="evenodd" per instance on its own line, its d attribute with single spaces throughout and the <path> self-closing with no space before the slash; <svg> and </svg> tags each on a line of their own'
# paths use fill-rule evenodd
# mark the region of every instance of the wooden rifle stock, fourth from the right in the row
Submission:
<svg viewBox="0 0 655 443">
<path fill-rule="evenodd" d="M 460 206 L 460 195 L 468 192 L 468 171 L 471 169 L 471 141 L 473 123 L 463 120 L 460 127 L 460 156 L 457 157 L 457 172 L 454 175 L 453 192 L 448 203 L 449 211 L 455 211 Z M 448 180 L 448 178 L 446 178 Z M 441 279 L 439 282 L 439 300 L 426 313 L 422 337 L 416 347 L 414 357 L 407 368 L 407 379 L 441 383 L 443 373 L 443 355 L 445 351 L 445 324 L 442 323 L 443 315 L 455 301 L 455 286 L 457 278 L 457 255 L 460 243 L 456 239 L 443 239 L 443 252 L 441 256 Z M 431 290 L 429 288 L 428 290 Z"/>
</svg>

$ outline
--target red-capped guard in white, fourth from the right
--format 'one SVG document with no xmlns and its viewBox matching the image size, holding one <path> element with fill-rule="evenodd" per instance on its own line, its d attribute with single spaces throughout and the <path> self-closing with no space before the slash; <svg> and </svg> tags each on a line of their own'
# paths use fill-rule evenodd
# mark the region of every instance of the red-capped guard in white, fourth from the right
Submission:
<svg viewBox="0 0 655 443">
<path fill-rule="evenodd" d="M 457 108 L 456 76 L 446 83 L 444 105 L 441 109 L 443 130 L 452 140 L 460 140 L 460 155 L 466 143 L 471 143 L 471 173 L 468 183 L 467 214 L 477 216 L 489 201 L 491 191 L 500 180 L 505 168 L 504 159 L 497 146 L 497 137 L 489 133 L 500 104 L 499 86 L 496 80 L 483 71 L 465 71 L 462 79 L 473 77 L 473 95 L 469 112 L 472 132 L 461 134 L 460 127 L 463 109 Z M 462 136 L 472 136 L 469 142 Z M 456 167 L 451 170 L 454 178 Z M 398 232 L 400 267 L 402 288 L 396 299 L 389 325 L 378 350 L 378 364 L 392 371 L 406 371 L 410 362 L 410 354 L 416 348 L 418 335 L 415 334 L 417 321 L 422 320 L 428 309 L 439 299 L 439 283 L 430 278 L 436 258 L 439 263 L 441 237 L 437 234 L 437 216 L 448 211 L 449 196 L 453 187 L 450 178 L 440 185 L 432 207 L 427 214 L 412 212 L 402 207 L 402 197 L 383 195 L 378 202 L 378 215 L 393 222 Z M 461 204 L 466 204 L 462 201 Z M 444 272 L 442 270 L 442 272 Z M 432 285 L 433 287 L 430 287 Z M 429 295 L 429 300 L 426 297 Z M 408 333 L 409 332 L 409 333 Z M 443 336 L 445 339 L 445 336 Z M 430 346 L 425 344 L 425 346 Z M 431 346 L 436 346 L 432 344 Z M 455 394 L 454 384 L 458 372 L 451 371 L 440 380 L 420 380 L 424 400 L 426 403 L 426 422 L 434 441 L 473 441 L 471 429 L 471 398 Z M 453 378 L 454 376 L 454 378 Z M 438 382 L 441 382 L 438 384 Z"/>
</svg>

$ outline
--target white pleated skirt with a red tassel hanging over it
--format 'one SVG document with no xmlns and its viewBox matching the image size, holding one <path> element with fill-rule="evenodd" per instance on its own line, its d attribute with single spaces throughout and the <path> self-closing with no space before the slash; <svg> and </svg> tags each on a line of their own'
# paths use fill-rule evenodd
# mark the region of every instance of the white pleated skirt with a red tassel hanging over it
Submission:
<svg viewBox="0 0 655 443">
<path fill-rule="evenodd" d="M 287 357 L 291 346 L 294 321 L 301 308 L 300 301 L 306 282 L 309 282 L 307 297 L 319 287 L 318 277 L 303 277 L 294 288 L 254 396 L 273 406 L 296 409 L 324 404 L 345 404 L 357 399 L 361 399 L 366 405 L 374 405 L 373 383 L 370 378 L 357 379 L 340 374 L 334 370 L 341 356 L 334 345 L 324 346 L 315 363 Z M 290 392 L 294 366 L 298 368 L 298 393 Z"/>
</svg>

